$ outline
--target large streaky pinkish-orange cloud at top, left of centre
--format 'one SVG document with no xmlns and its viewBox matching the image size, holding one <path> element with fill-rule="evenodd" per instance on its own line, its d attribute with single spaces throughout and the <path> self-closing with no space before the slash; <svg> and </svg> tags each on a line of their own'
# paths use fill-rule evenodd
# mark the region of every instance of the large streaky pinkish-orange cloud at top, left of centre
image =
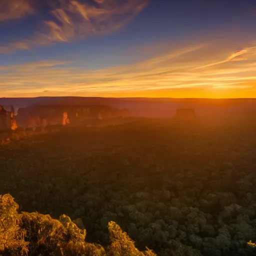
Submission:
<svg viewBox="0 0 256 256">
<path fill-rule="evenodd" d="M 128 23 L 148 0 L 94 0 L 92 3 L 88 0 L 51 0 L 49 3 L 51 19 L 43 20 L 33 36 L 3 45 L 8 52 L 113 32 Z"/>
</svg>

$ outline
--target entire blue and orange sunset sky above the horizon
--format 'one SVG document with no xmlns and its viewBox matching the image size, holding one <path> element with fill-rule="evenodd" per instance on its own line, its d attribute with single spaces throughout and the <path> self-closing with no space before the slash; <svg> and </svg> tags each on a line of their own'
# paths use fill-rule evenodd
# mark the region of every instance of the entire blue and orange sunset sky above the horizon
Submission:
<svg viewBox="0 0 256 256">
<path fill-rule="evenodd" d="M 0 0 L 0 97 L 256 97 L 255 0 Z"/>
</svg>

